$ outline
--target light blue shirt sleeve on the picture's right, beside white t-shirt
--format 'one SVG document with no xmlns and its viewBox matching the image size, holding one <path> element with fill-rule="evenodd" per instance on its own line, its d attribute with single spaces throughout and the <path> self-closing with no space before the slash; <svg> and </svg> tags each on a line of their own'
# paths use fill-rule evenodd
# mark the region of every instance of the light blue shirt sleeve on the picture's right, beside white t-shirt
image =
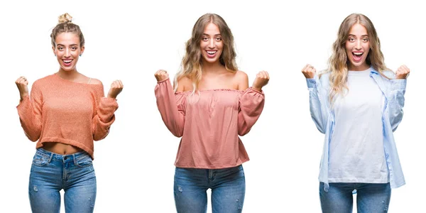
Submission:
<svg viewBox="0 0 426 213">
<path fill-rule="evenodd" d="M 395 131 L 403 119 L 404 94 L 407 80 L 389 81 L 391 82 L 390 94 L 388 95 L 389 120 L 391 121 L 392 131 Z"/>
</svg>

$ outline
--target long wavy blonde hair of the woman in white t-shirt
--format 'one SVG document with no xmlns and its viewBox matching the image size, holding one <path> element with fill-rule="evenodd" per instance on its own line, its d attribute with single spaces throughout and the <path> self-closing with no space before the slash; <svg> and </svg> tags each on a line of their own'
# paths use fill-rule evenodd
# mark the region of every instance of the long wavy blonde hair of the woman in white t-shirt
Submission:
<svg viewBox="0 0 426 213">
<path fill-rule="evenodd" d="M 377 70 L 383 77 L 386 77 L 386 75 L 383 74 L 383 71 L 389 70 L 385 65 L 383 53 L 381 52 L 380 40 L 378 39 L 376 28 L 374 28 L 373 23 L 363 14 L 352 13 L 344 18 L 344 21 L 340 24 L 339 31 L 337 33 L 337 40 L 333 43 L 333 54 L 329 58 L 328 62 L 329 67 L 327 72 L 331 72 L 329 75 L 329 82 L 331 85 L 331 89 L 329 91 L 330 104 L 333 104 L 334 98 L 338 94 L 344 94 L 344 89 L 349 89 L 346 82 L 348 80 L 348 65 L 350 61 L 348 60 L 348 55 L 346 55 L 346 41 L 349 38 L 349 31 L 351 31 L 351 27 L 356 23 L 364 26 L 368 33 L 370 50 L 368 51 L 366 58 L 367 64 L 373 67 L 374 70 Z M 324 74 L 324 72 L 322 74 Z"/>
</svg>

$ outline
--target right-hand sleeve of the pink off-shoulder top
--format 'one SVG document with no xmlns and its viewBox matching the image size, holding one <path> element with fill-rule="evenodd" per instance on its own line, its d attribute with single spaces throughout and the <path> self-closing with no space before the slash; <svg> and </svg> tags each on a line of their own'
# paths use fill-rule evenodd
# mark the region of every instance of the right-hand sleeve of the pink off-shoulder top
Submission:
<svg viewBox="0 0 426 213">
<path fill-rule="evenodd" d="M 239 99 L 238 134 L 244 136 L 249 133 L 256 123 L 265 105 L 265 94 L 249 87 Z"/>
</svg>

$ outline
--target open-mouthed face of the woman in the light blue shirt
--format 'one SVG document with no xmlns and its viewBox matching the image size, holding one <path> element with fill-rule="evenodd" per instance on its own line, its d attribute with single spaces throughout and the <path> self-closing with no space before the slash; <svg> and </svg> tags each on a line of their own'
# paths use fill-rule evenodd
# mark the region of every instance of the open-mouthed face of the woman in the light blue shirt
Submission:
<svg viewBox="0 0 426 213">
<path fill-rule="evenodd" d="M 349 60 L 349 70 L 361 71 L 367 70 L 370 67 L 366 62 L 368 52 L 370 51 L 370 40 L 367 29 L 364 26 L 355 23 L 351 27 L 345 49 Z"/>
</svg>

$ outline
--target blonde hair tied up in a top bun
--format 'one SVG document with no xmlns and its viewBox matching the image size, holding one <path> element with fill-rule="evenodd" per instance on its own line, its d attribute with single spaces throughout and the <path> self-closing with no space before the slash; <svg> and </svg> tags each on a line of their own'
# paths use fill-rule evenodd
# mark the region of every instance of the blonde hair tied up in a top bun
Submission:
<svg viewBox="0 0 426 213">
<path fill-rule="evenodd" d="M 56 36 L 60 33 L 75 33 L 78 38 L 80 38 L 80 47 L 84 46 L 84 36 L 80 30 L 80 26 L 75 23 L 72 23 L 72 16 L 68 13 L 64 13 L 58 17 L 58 24 L 53 28 L 52 33 L 50 34 L 52 46 L 56 47 Z"/>
</svg>

